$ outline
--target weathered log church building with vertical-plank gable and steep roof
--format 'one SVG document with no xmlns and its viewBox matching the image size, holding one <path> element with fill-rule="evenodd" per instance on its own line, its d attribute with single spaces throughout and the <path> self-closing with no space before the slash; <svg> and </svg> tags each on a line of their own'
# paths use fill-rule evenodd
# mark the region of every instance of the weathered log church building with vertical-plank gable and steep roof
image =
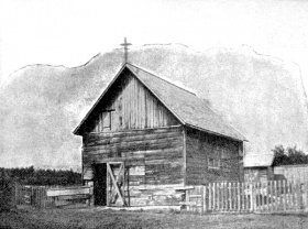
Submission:
<svg viewBox="0 0 308 229">
<path fill-rule="evenodd" d="M 100 206 L 177 206 L 180 189 L 243 179 L 244 137 L 204 99 L 125 62 L 74 130 Z"/>
</svg>

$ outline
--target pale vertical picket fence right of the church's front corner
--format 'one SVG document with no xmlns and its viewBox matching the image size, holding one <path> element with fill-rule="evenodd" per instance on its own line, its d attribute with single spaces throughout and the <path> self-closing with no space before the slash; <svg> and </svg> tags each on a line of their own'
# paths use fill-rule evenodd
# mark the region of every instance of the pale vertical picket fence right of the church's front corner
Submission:
<svg viewBox="0 0 308 229">
<path fill-rule="evenodd" d="M 182 204 L 198 212 L 306 211 L 308 183 L 210 183 L 188 188 Z"/>
</svg>

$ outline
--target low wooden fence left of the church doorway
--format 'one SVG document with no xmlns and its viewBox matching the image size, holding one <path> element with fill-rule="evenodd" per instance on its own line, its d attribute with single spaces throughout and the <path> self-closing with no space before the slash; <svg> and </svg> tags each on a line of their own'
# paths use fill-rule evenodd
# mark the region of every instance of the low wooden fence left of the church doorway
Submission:
<svg viewBox="0 0 308 229">
<path fill-rule="evenodd" d="M 85 198 L 86 195 L 86 198 Z M 35 208 L 51 208 L 66 205 L 88 204 L 90 188 L 48 187 L 15 184 L 15 204 Z"/>
</svg>

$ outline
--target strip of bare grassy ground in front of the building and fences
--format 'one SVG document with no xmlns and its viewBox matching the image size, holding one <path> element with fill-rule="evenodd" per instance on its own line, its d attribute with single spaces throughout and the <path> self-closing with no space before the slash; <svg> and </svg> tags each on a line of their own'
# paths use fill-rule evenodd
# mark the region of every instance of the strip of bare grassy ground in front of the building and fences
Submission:
<svg viewBox="0 0 308 229">
<path fill-rule="evenodd" d="M 198 215 L 103 208 L 18 209 L 0 212 L 0 229 L 10 228 L 308 228 L 308 215 Z"/>
</svg>

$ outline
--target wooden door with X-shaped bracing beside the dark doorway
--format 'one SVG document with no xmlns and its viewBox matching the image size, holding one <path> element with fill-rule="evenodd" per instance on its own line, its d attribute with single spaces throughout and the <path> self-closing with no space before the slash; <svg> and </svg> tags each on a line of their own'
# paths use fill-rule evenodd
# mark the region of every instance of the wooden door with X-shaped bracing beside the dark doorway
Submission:
<svg viewBox="0 0 308 229">
<path fill-rule="evenodd" d="M 107 206 L 127 206 L 124 162 L 107 163 Z"/>
</svg>

